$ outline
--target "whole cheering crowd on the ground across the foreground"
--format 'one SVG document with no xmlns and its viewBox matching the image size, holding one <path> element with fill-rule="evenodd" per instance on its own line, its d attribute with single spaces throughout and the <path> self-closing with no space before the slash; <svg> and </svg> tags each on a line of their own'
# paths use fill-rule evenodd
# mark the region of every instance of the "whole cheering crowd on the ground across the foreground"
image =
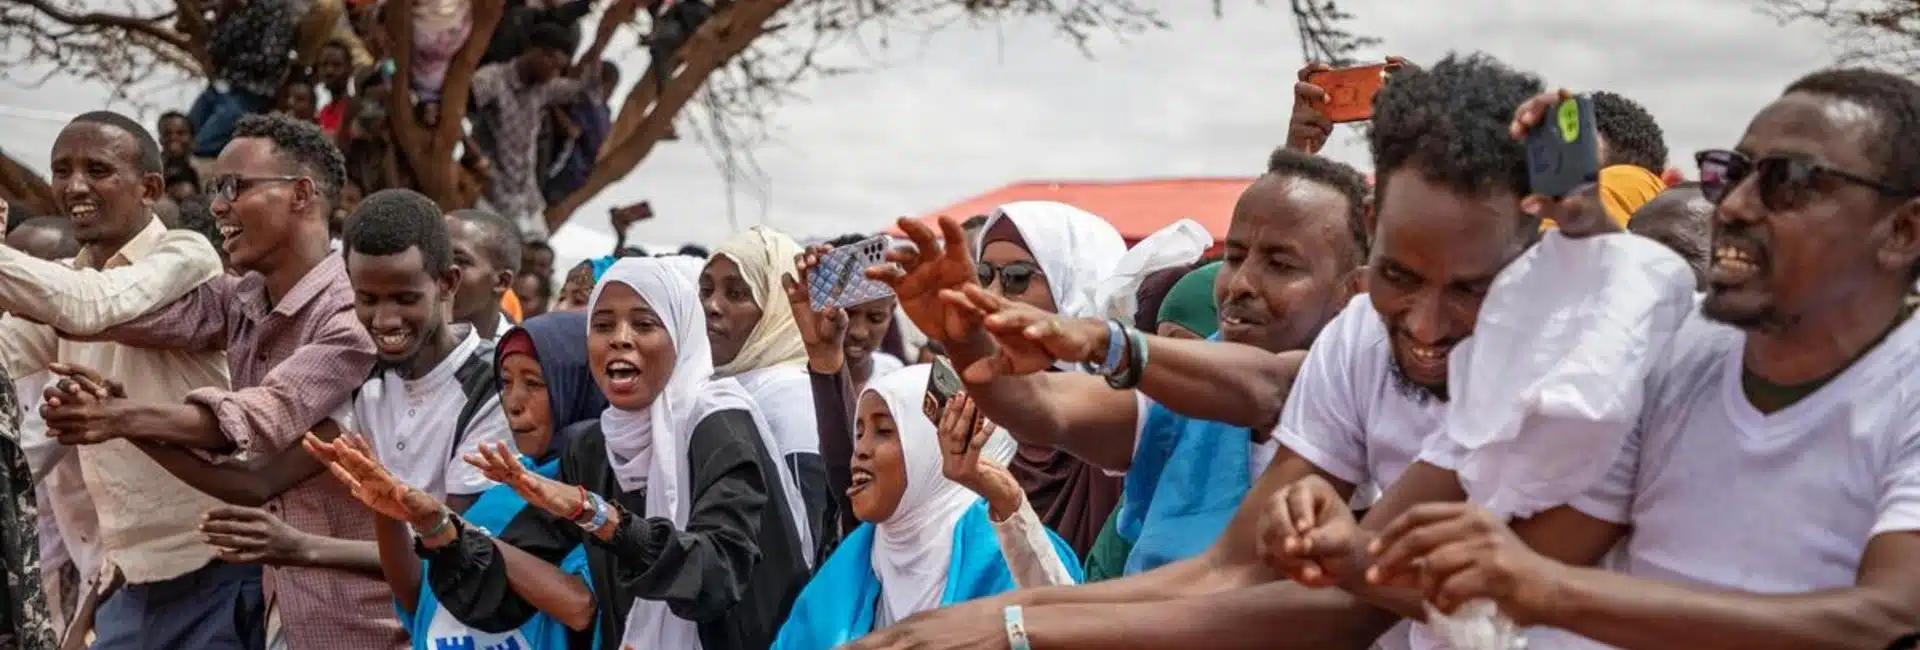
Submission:
<svg viewBox="0 0 1920 650">
<path fill-rule="evenodd" d="M 1567 96 L 1532 73 L 1402 65 L 1373 176 L 1302 81 L 1221 245 L 1008 203 L 900 221 L 891 295 L 816 309 L 879 234 L 522 284 L 563 92 L 515 75 L 599 69 L 549 38 L 476 81 L 532 115 L 488 207 L 367 184 L 351 117 L 240 71 L 157 136 L 65 125 L 61 213 L 0 245 L 6 646 L 1914 642 L 1908 79 L 1811 73 L 1692 182 L 1594 90 L 1567 196 L 1530 186 Z"/>
</svg>

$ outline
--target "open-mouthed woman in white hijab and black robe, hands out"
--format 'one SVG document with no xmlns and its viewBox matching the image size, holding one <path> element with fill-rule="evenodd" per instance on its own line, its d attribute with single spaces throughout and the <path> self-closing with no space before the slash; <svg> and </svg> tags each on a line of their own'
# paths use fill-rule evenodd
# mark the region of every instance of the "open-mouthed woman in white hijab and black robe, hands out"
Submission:
<svg viewBox="0 0 1920 650">
<path fill-rule="evenodd" d="M 538 527 L 547 543 L 586 537 L 599 650 L 766 648 L 806 581 L 810 531 L 753 399 L 712 378 L 693 286 L 668 263 L 622 259 L 588 318 L 588 364 L 611 403 L 599 429 L 574 437 L 557 481 L 515 464 L 488 476 L 559 518 Z M 468 625 L 515 625 L 536 571 L 467 539 L 432 558 L 434 592 Z"/>
</svg>

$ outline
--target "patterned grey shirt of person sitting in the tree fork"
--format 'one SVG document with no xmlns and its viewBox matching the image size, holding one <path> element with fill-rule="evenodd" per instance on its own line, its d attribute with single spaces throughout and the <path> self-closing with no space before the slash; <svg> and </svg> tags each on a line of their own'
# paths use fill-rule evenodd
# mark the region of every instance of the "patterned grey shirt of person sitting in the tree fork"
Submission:
<svg viewBox="0 0 1920 650">
<path fill-rule="evenodd" d="M 540 86 L 526 86 L 511 61 L 474 73 L 474 132 L 484 134 L 480 144 L 493 159 L 493 182 L 488 184 L 486 197 L 528 236 L 547 234 L 547 222 L 540 215 L 547 209 L 547 199 L 540 194 L 543 111 L 595 86 L 599 65 L 589 65 L 580 79 L 555 77 Z"/>
</svg>

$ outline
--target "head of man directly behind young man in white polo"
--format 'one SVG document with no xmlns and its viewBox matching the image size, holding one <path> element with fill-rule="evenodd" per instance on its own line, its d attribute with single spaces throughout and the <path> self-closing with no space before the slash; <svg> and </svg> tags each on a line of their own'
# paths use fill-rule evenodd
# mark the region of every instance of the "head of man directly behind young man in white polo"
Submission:
<svg viewBox="0 0 1920 650">
<path fill-rule="evenodd" d="M 501 299 L 520 274 L 520 232 L 507 217 L 484 209 L 447 213 L 447 234 L 453 240 L 453 267 L 461 268 L 461 284 L 453 291 L 453 322 L 465 322 L 482 339 L 495 341 L 513 326 L 501 314 Z"/>
</svg>

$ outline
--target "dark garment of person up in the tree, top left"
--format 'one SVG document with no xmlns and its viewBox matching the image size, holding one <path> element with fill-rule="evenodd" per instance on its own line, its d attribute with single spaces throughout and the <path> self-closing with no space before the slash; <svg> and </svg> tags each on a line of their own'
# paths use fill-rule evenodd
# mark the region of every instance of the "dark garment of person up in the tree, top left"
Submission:
<svg viewBox="0 0 1920 650">
<path fill-rule="evenodd" d="M 253 0 L 232 10 L 207 38 L 217 79 L 259 96 L 278 94 L 309 6 L 300 0 Z"/>
</svg>

